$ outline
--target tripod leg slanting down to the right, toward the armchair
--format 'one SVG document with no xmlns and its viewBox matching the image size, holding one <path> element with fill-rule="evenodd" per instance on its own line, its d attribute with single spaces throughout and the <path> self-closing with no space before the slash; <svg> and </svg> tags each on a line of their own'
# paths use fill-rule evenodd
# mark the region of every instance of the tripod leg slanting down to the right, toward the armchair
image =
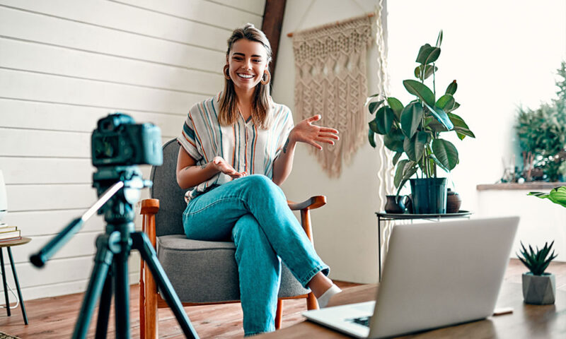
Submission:
<svg viewBox="0 0 566 339">
<path fill-rule="evenodd" d="M 147 267 L 151 270 L 151 274 L 154 275 L 157 286 L 161 289 L 164 299 L 169 307 L 171 307 L 171 310 L 173 310 L 173 314 L 175 314 L 175 318 L 179 322 L 181 329 L 183 329 L 185 337 L 198 339 L 199 336 L 195 328 L 192 327 L 189 317 L 183 309 L 183 304 L 181 304 L 179 297 L 175 293 L 175 290 L 173 290 L 173 286 L 171 286 L 169 278 L 167 278 L 165 274 L 165 270 L 163 270 L 161 263 L 159 263 L 157 259 L 154 246 L 151 245 L 151 242 L 149 242 L 149 239 L 143 232 L 134 232 L 131 234 L 131 237 L 132 248 L 139 251 L 141 258 L 146 262 Z M 142 307 L 142 305 L 140 305 L 140 307 Z"/>
</svg>

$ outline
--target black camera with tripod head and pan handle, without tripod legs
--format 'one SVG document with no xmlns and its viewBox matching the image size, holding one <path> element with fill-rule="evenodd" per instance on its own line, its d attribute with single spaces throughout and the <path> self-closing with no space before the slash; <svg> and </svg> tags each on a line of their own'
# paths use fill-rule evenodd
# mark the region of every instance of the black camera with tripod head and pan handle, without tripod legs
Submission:
<svg viewBox="0 0 566 339">
<path fill-rule="evenodd" d="M 135 124 L 132 117 L 122 113 L 98 120 L 91 138 L 91 150 L 92 163 L 98 169 L 93 173 L 98 201 L 30 256 L 31 263 L 37 267 L 44 266 L 95 212 L 104 215 L 109 225 L 107 232 L 114 229 L 113 225 L 127 225 L 131 232 L 133 206 L 139 200 L 139 190 L 151 186 L 151 181 L 143 179 L 137 165 L 163 163 L 159 128 L 149 123 Z"/>
</svg>

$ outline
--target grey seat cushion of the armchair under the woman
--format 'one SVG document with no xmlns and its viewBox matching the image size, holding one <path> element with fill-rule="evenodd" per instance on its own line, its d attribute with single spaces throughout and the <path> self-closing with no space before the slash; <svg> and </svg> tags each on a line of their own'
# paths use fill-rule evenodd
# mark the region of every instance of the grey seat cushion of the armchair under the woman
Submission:
<svg viewBox="0 0 566 339">
<path fill-rule="evenodd" d="M 240 299 L 233 242 L 202 242 L 185 235 L 157 237 L 157 257 L 181 302 L 226 302 Z M 282 263 L 279 297 L 310 292 Z"/>
</svg>

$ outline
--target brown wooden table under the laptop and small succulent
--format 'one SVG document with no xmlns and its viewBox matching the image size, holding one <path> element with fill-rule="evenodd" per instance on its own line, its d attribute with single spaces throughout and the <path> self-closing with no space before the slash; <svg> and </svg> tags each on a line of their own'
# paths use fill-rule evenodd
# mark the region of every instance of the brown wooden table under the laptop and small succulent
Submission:
<svg viewBox="0 0 566 339">
<path fill-rule="evenodd" d="M 373 300 L 377 285 L 352 287 L 330 300 L 337 306 Z M 556 291 L 556 303 L 536 306 L 524 304 L 521 284 L 504 283 L 497 307 L 513 307 L 513 314 L 490 316 L 482 321 L 433 331 L 405 335 L 400 338 L 566 338 L 566 292 Z M 283 323 L 284 325 L 284 323 Z M 279 331 L 259 335 L 258 338 L 350 338 L 310 321 L 297 323 Z"/>
</svg>

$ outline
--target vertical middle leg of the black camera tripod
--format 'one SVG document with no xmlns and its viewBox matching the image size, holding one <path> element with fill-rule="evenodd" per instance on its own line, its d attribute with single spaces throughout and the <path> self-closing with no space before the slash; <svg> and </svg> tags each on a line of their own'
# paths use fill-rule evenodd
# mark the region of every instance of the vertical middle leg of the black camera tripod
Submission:
<svg viewBox="0 0 566 339">
<path fill-rule="evenodd" d="M 125 251 L 114 256 L 116 339 L 129 339 L 128 256 Z"/>
</svg>

